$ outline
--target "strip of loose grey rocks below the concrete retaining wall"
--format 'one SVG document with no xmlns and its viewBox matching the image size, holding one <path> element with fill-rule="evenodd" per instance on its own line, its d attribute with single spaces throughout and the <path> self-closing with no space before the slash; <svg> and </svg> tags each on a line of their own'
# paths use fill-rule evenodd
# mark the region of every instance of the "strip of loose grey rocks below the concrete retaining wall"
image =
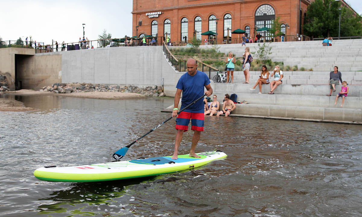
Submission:
<svg viewBox="0 0 362 217">
<path fill-rule="evenodd" d="M 52 93 L 81 93 L 81 92 L 119 92 L 119 93 L 138 93 L 145 97 L 164 97 L 161 86 L 148 86 L 139 88 L 132 85 L 102 85 L 90 83 L 55 83 L 45 86 L 40 92 Z"/>
</svg>

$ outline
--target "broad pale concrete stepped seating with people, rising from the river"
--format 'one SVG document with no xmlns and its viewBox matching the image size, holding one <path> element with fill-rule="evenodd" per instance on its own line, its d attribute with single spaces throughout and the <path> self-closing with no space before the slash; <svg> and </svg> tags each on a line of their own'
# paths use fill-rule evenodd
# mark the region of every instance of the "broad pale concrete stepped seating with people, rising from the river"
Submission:
<svg viewBox="0 0 362 217">
<path fill-rule="evenodd" d="M 272 60 L 283 61 L 284 65 L 298 65 L 298 68 L 313 68 L 313 71 L 284 71 L 283 84 L 268 94 L 270 85 L 262 85 L 259 89 L 250 90 L 257 81 L 260 72 L 250 72 L 250 84 L 245 81 L 243 72 L 234 72 L 233 84 L 214 84 L 211 86 L 218 99 L 228 93 L 236 93 L 237 101 L 248 101 L 249 104 L 237 104 L 233 114 L 275 116 L 285 118 L 301 118 L 314 120 L 338 120 L 350 123 L 362 123 L 362 39 L 334 40 L 333 45 L 322 46 L 321 41 L 276 42 L 271 43 Z M 257 43 L 248 44 L 251 51 Z M 242 56 L 244 47 L 237 44 L 226 44 L 220 51 L 229 51 Z M 341 84 L 336 92 L 329 93 L 329 72 L 334 65 L 342 72 L 342 80 L 349 84 L 349 93 L 343 107 L 341 98 L 334 105 Z M 272 69 L 269 69 L 272 70 Z"/>
</svg>

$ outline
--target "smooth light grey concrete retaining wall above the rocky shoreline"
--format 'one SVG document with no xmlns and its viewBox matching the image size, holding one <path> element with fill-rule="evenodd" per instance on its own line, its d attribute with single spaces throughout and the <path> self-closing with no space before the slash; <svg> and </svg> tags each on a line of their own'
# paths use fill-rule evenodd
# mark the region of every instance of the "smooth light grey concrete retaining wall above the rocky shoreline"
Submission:
<svg viewBox="0 0 362 217">
<path fill-rule="evenodd" d="M 182 74 L 168 63 L 161 46 L 62 52 L 62 82 L 161 86 L 164 78 L 169 95 Z"/>
</svg>

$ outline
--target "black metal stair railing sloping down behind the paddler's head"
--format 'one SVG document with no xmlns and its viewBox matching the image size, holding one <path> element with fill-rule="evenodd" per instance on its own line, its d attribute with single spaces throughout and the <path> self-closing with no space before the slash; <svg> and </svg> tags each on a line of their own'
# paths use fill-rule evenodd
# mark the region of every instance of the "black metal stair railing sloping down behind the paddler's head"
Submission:
<svg viewBox="0 0 362 217">
<path fill-rule="evenodd" d="M 171 51 L 168 50 L 165 42 L 163 43 L 163 52 L 165 53 L 168 61 L 171 63 L 171 65 L 173 67 L 175 67 L 175 69 L 177 71 L 179 71 L 179 72 L 187 71 L 186 60 L 182 60 L 182 61 L 177 60 L 177 58 L 172 55 Z M 217 73 L 218 69 L 216 69 L 210 65 L 207 65 L 207 64 L 203 63 L 202 61 L 196 60 L 196 64 L 197 64 L 197 70 L 199 70 L 201 72 L 205 72 L 210 80 L 218 74 Z"/>
</svg>

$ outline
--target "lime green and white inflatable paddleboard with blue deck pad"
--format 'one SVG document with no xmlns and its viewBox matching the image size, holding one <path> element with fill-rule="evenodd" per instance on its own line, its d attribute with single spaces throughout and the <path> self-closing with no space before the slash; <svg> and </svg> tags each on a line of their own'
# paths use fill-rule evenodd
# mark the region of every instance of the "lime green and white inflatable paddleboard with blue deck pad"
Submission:
<svg viewBox="0 0 362 217">
<path fill-rule="evenodd" d="M 200 158 L 184 154 L 179 155 L 176 160 L 167 156 L 82 166 L 41 167 L 34 171 L 34 176 L 49 182 L 102 182 L 173 173 L 227 157 L 221 151 L 202 152 L 197 155 Z"/>
</svg>

